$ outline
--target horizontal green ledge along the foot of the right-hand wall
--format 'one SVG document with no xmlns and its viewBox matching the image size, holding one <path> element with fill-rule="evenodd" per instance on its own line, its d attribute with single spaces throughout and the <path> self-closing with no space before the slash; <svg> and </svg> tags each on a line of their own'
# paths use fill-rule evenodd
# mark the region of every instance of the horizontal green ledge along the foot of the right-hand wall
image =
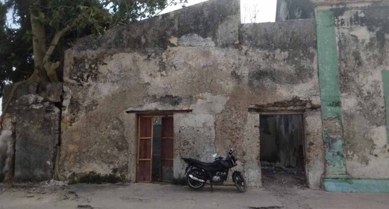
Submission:
<svg viewBox="0 0 389 209">
<path fill-rule="evenodd" d="M 329 192 L 389 192 L 389 179 L 323 179 Z"/>
</svg>

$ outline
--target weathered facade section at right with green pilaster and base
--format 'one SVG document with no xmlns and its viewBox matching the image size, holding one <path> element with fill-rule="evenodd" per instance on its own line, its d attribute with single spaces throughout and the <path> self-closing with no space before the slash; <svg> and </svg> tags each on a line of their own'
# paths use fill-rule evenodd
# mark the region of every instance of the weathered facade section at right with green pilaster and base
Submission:
<svg viewBox="0 0 389 209">
<path fill-rule="evenodd" d="M 388 10 L 387 1 L 316 8 L 319 75 L 326 75 L 320 83 L 327 190 L 387 191 L 389 186 Z"/>
</svg>

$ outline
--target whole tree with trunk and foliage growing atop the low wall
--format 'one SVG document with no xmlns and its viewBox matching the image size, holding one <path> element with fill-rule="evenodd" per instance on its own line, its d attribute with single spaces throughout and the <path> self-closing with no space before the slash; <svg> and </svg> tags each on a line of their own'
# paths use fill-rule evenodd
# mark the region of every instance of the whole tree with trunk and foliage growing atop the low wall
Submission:
<svg viewBox="0 0 389 209">
<path fill-rule="evenodd" d="M 17 82 L 3 108 L 0 125 L 17 87 L 57 82 L 63 39 L 101 35 L 107 29 L 152 17 L 166 6 L 187 0 L 5 0 L 0 2 L 0 83 Z M 8 25 L 7 12 L 13 12 Z M 6 41 L 4 41 L 6 40 Z"/>
</svg>

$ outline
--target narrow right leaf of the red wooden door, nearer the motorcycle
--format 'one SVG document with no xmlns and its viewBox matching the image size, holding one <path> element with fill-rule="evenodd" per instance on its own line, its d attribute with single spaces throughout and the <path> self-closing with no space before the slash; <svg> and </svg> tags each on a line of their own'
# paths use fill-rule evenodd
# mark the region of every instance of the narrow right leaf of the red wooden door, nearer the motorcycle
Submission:
<svg viewBox="0 0 389 209">
<path fill-rule="evenodd" d="M 173 158 L 174 158 L 174 130 L 173 116 L 162 117 L 162 138 L 161 138 L 161 180 L 170 181 L 173 179 Z"/>
</svg>

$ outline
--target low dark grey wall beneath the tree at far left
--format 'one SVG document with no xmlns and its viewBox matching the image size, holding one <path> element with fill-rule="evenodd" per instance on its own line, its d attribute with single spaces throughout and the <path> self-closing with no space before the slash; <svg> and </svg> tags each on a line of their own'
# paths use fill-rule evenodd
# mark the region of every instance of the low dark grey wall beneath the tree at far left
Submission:
<svg viewBox="0 0 389 209">
<path fill-rule="evenodd" d="M 4 88 L 4 98 L 8 98 L 13 85 Z M 53 178 L 61 94 L 62 83 L 24 83 L 16 89 L 16 99 L 3 118 L 0 134 L 0 177 L 4 180 Z"/>
</svg>

